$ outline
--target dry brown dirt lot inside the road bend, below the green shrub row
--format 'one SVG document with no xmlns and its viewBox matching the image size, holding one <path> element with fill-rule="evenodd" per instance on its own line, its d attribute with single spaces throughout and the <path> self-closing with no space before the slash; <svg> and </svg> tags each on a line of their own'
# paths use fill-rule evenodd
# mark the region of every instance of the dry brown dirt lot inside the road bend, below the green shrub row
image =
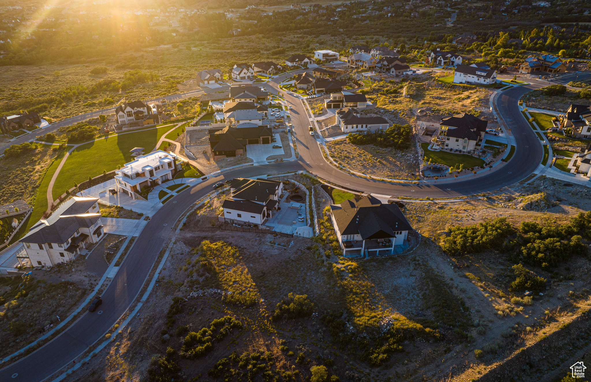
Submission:
<svg viewBox="0 0 591 382">
<path fill-rule="evenodd" d="M 327 142 L 326 146 L 330 156 L 350 170 L 375 177 L 418 179 L 412 175 L 418 175 L 419 172 L 415 145 L 408 150 L 400 151 L 374 145 L 357 146 L 349 143 L 347 139 L 339 139 Z"/>
</svg>

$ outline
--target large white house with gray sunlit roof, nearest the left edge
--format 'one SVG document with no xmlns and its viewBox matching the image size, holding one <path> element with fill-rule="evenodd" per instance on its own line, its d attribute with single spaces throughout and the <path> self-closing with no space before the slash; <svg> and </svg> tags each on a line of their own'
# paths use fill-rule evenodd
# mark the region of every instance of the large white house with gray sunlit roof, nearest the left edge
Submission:
<svg viewBox="0 0 591 382">
<path fill-rule="evenodd" d="M 70 262 L 105 233 L 100 216 L 98 198 L 72 197 L 18 240 L 24 251 L 17 256 L 28 257 L 33 266 Z"/>
</svg>

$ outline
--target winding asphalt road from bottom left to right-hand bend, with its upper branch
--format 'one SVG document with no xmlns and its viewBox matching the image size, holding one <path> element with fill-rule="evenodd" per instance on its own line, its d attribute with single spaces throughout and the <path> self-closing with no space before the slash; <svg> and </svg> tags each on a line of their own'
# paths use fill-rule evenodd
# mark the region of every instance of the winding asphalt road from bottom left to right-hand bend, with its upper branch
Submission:
<svg viewBox="0 0 591 382">
<path fill-rule="evenodd" d="M 587 76 L 591 76 L 591 73 Z M 579 75 L 579 78 L 581 76 Z M 276 79 L 268 87 L 277 92 Z M 569 81 L 562 79 L 562 82 Z M 502 116 L 512 129 L 517 142 L 515 155 L 501 170 L 485 178 L 478 178 L 444 185 L 389 184 L 353 177 L 327 164 L 319 145 L 309 135 L 306 112 L 301 100 L 286 96 L 291 112 L 300 158 L 298 161 L 282 162 L 263 166 L 252 166 L 226 172 L 219 177 L 207 179 L 181 192 L 164 205 L 142 230 L 135 244 L 126 256 L 115 278 L 103 293 L 103 304 L 98 312 L 86 312 L 66 331 L 40 349 L 0 370 L 0 381 L 38 382 L 50 377 L 87 348 L 104 338 L 104 335 L 124 315 L 144 285 L 148 274 L 160 253 L 167 237 L 171 234 L 177 218 L 198 198 L 212 191 L 212 185 L 233 177 L 257 177 L 273 172 L 308 170 L 320 177 L 346 187 L 381 195 L 407 197 L 454 197 L 495 190 L 527 177 L 537 168 L 543 155 L 540 141 L 527 121 L 519 113 L 519 97 L 539 86 L 513 87 L 498 98 Z"/>
</svg>

